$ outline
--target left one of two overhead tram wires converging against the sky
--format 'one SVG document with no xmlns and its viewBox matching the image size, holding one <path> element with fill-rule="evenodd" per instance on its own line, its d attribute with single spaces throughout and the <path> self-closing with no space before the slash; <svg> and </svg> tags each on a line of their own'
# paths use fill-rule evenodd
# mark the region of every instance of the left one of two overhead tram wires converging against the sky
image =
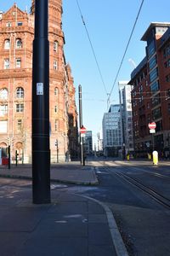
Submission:
<svg viewBox="0 0 170 256">
<path fill-rule="evenodd" d="M 103 84 L 103 86 L 104 86 L 105 94 L 106 94 L 106 96 L 108 96 L 108 93 L 107 93 L 107 90 L 106 90 L 106 87 L 105 87 L 105 82 L 104 82 L 104 79 L 103 79 L 103 75 L 102 75 L 101 70 L 100 70 L 100 67 L 99 67 L 99 62 L 98 62 L 97 57 L 96 57 L 96 55 L 95 55 L 94 46 L 93 46 L 92 41 L 91 41 L 91 39 L 90 39 L 90 36 L 89 36 L 89 33 L 88 33 L 88 28 L 87 28 L 87 26 L 86 26 L 86 23 L 85 23 L 85 21 L 84 21 L 84 19 L 83 19 L 82 10 L 81 10 L 81 8 L 80 8 L 80 5 L 79 5 L 79 3 L 78 3 L 78 0 L 77 0 L 77 7 L 78 7 L 78 9 L 79 9 L 79 12 L 80 12 L 80 15 L 81 15 L 81 18 L 82 18 L 82 24 L 83 24 L 83 26 L 85 27 L 86 33 L 87 33 L 87 35 L 88 35 L 88 41 L 89 41 L 89 43 L 90 43 L 91 49 L 92 49 L 93 54 L 94 54 L 94 60 L 95 60 L 95 62 L 96 62 L 96 65 L 97 65 L 97 67 L 98 67 L 98 70 L 99 70 L 99 76 L 100 76 L 100 79 L 101 79 L 102 84 Z"/>
</svg>

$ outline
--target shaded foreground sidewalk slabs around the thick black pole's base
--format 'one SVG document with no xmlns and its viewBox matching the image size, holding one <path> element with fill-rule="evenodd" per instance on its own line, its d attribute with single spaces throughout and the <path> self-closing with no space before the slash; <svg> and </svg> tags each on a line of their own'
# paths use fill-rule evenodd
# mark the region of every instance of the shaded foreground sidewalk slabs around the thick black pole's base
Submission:
<svg viewBox="0 0 170 256">
<path fill-rule="evenodd" d="M 10 187 L 0 189 L 1 256 L 116 255 L 105 209 L 98 203 L 53 191 L 51 204 L 32 205 L 30 190 L 11 196 Z"/>
</svg>

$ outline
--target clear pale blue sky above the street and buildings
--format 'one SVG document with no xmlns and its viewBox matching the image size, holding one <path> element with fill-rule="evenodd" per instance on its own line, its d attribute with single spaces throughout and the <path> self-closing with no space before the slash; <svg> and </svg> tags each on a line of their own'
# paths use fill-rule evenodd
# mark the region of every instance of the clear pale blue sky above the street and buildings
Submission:
<svg viewBox="0 0 170 256">
<path fill-rule="evenodd" d="M 8 0 L 0 2 L 0 9 L 5 11 L 14 2 L 20 9 L 26 9 L 26 6 L 29 9 L 31 6 L 31 0 Z M 107 93 L 111 92 L 141 2 L 141 0 L 78 0 Z M 111 94 L 111 103 L 118 102 L 118 81 L 130 79 L 133 64 L 129 59 L 138 65 L 144 58 L 145 42 L 140 41 L 140 38 L 150 26 L 150 22 L 170 22 L 169 12 L 169 0 L 144 0 L 133 38 Z M 83 125 L 93 131 L 95 139 L 96 133 L 102 126 L 103 114 L 107 111 L 107 94 L 82 24 L 77 0 L 63 0 L 63 31 L 65 58 L 71 65 L 77 98 L 78 84 L 82 84 Z"/>
</svg>

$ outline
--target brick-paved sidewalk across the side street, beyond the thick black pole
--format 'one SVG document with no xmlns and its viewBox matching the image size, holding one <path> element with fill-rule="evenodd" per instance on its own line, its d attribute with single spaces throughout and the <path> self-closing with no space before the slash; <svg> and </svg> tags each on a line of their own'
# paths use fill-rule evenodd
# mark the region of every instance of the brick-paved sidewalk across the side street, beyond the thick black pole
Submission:
<svg viewBox="0 0 170 256">
<path fill-rule="evenodd" d="M 0 166 L 0 177 L 31 178 L 31 165 Z M 51 181 L 77 183 L 85 185 L 98 184 L 93 166 L 81 166 L 79 162 L 51 165 Z"/>
</svg>

